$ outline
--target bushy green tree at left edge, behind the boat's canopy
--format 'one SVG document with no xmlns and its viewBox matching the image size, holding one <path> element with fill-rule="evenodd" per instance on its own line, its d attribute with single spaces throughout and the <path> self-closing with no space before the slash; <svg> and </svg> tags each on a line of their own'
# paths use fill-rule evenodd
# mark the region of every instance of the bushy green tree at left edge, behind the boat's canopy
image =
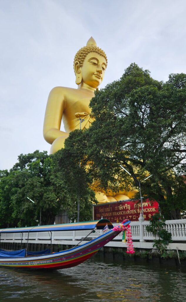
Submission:
<svg viewBox="0 0 186 302">
<path fill-rule="evenodd" d="M 61 205 L 50 178 L 52 159 L 47 152 L 18 156 L 18 162 L 0 178 L 0 223 L 13 226 L 36 225 L 42 213 L 42 224 L 54 223 Z M 63 191 L 63 188 L 61 188 Z M 31 198 L 35 203 L 27 199 Z"/>
</svg>

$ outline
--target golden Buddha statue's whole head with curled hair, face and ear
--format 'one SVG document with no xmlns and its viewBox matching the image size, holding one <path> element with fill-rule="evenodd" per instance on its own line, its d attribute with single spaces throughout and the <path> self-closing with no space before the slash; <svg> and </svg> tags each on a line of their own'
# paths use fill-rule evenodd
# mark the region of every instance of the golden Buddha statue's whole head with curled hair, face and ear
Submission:
<svg viewBox="0 0 186 302">
<path fill-rule="evenodd" d="M 82 47 L 74 58 L 76 84 L 80 85 L 83 82 L 97 89 L 103 81 L 106 68 L 107 56 L 101 48 L 97 47 L 95 40 L 91 37 L 87 45 Z"/>
</svg>

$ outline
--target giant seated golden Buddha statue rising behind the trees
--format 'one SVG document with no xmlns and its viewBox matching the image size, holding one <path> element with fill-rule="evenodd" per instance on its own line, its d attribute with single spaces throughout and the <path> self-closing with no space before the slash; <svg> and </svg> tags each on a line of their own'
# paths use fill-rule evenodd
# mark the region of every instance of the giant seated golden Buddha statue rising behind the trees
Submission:
<svg viewBox="0 0 186 302">
<path fill-rule="evenodd" d="M 107 56 L 97 47 L 91 37 L 86 46 L 82 47 L 74 58 L 74 72 L 76 75 L 77 89 L 68 87 L 55 87 L 48 96 L 43 126 L 43 136 L 51 144 L 50 154 L 64 148 L 64 141 L 69 133 L 75 129 L 90 127 L 94 118 L 90 116 L 89 103 L 98 86 L 104 78 L 107 68 Z M 64 123 L 64 131 L 60 130 L 61 120 Z M 95 192 L 99 203 L 132 198 L 135 191 L 109 192 L 109 196 L 102 192 Z"/>
</svg>

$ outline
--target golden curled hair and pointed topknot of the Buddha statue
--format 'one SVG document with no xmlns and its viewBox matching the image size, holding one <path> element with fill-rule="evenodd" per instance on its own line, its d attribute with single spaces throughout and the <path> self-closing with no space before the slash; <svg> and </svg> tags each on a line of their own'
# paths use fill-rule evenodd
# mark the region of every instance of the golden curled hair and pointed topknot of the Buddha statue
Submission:
<svg viewBox="0 0 186 302">
<path fill-rule="evenodd" d="M 82 67 L 85 57 L 88 55 L 88 53 L 91 53 L 91 52 L 95 52 L 95 53 L 98 53 L 100 56 L 103 56 L 107 62 L 106 53 L 97 46 L 96 41 L 91 37 L 88 40 L 87 45 L 80 48 L 80 50 L 78 50 L 78 52 L 76 53 L 76 55 L 74 57 L 74 63 L 76 61 L 78 61 L 80 64 L 80 67 Z M 75 72 L 75 69 L 74 69 L 74 72 Z M 75 74 L 76 74 L 76 72 L 75 72 Z"/>
</svg>

